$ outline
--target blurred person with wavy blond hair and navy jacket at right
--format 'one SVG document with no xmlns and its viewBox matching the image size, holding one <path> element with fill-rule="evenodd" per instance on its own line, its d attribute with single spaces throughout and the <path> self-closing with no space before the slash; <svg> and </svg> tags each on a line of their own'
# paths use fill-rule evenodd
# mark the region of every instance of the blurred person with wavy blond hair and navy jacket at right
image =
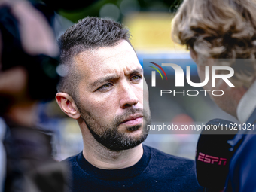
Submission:
<svg viewBox="0 0 256 192">
<path fill-rule="evenodd" d="M 201 81 L 206 77 L 205 66 L 222 64 L 234 69 L 230 81 L 235 87 L 216 79 L 216 87 L 209 81 L 204 89 L 223 90 L 223 96 L 211 96 L 212 100 L 241 124 L 255 124 L 256 1 L 185 0 L 173 20 L 172 38 L 187 45 Z M 231 150 L 236 151 L 230 160 L 225 191 L 256 191 L 256 136 L 252 127 L 239 130 L 241 134 L 230 141 Z"/>
</svg>

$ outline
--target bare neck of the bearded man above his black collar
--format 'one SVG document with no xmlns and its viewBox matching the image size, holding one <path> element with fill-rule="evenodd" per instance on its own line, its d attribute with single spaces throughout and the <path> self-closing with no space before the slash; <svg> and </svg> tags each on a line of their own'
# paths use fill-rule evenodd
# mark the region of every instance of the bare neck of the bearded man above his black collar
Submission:
<svg viewBox="0 0 256 192">
<path fill-rule="evenodd" d="M 84 158 L 99 169 L 123 169 L 135 165 L 142 157 L 142 144 L 127 150 L 111 151 L 97 142 L 87 128 L 82 134 Z"/>
</svg>

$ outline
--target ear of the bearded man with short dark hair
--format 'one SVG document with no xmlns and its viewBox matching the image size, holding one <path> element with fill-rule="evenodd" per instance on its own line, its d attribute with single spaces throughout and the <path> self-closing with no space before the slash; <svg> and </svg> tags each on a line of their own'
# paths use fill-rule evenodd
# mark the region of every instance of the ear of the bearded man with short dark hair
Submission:
<svg viewBox="0 0 256 192">
<path fill-rule="evenodd" d="M 72 96 L 69 96 L 68 93 L 57 93 L 56 102 L 61 110 L 69 115 L 69 117 L 72 117 L 73 119 L 78 119 L 80 117 L 77 105 L 75 105 L 74 99 L 72 99 Z"/>
</svg>

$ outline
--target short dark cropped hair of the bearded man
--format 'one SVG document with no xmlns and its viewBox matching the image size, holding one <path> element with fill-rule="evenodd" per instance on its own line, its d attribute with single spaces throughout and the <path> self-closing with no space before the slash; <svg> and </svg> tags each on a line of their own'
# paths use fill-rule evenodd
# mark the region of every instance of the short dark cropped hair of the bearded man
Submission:
<svg viewBox="0 0 256 192">
<path fill-rule="evenodd" d="M 121 40 L 130 43 L 130 32 L 114 20 L 86 17 L 67 29 L 59 38 L 60 62 L 65 66 L 66 75 L 59 81 L 58 92 L 68 93 L 73 99 L 78 99 L 75 84 L 79 77 L 72 65 L 74 56 L 84 50 L 112 47 Z"/>
</svg>

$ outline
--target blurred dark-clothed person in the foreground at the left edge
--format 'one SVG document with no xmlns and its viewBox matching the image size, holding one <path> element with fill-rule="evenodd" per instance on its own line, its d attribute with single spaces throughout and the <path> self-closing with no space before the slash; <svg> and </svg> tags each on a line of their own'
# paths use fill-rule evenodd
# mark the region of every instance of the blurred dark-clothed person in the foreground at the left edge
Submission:
<svg viewBox="0 0 256 192">
<path fill-rule="evenodd" d="M 41 11 L 0 2 L 0 191 L 67 191 L 66 166 L 53 160 L 50 133 L 37 126 L 38 102 L 56 94 L 58 56 Z"/>
</svg>

